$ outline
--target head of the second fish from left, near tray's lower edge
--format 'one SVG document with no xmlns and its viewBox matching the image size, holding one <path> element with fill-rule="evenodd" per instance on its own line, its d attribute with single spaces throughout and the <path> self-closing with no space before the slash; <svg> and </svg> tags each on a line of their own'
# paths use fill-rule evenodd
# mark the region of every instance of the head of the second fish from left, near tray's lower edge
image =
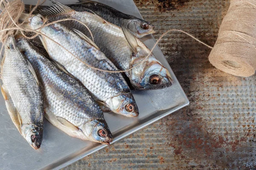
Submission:
<svg viewBox="0 0 256 170">
<path fill-rule="evenodd" d="M 94 119 L 86 122 L 83 132 L 87 138 L 93 142 L 110 144 L 110 142 L 113 141 L 113 136 L 104 119 Z"/>
</svg>

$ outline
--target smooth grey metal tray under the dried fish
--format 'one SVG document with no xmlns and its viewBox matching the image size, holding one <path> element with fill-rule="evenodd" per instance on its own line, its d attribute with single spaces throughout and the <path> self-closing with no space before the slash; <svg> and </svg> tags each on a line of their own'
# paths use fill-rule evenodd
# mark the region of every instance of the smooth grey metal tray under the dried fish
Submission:
<svg viewBox="0 0 256 170">
<path fill-rule="evenodd" d="M 64 4 L 76 3 L 76 0 L 59 1 Z M 133 0 L 98 1 L 124 13 L 142 18 Z M 24 0 L 25 4 L 35 5 L 36 2 L 35 0 Z M 151 35 L 143 37 L 142 40 L 148 48 L 151 48 L 155 42 Z M 169 69 L 174 84 L 162 90 L 133 91 L 140 110 L 140 116 L 137 118 L 105 113 L 105 119 L 114 136 L 113 142 L 189 105 L 186 94 L 160 48 L 156 47 L 153 52 L 157 59 Z M 108 146 L 70 137 L 45 121 L 43 143 L 39 150 L 34 150 L 12 123 L 3 96 L 0 95 L 0 170 L 60 169 L 104 147 Z"/>
</svg>

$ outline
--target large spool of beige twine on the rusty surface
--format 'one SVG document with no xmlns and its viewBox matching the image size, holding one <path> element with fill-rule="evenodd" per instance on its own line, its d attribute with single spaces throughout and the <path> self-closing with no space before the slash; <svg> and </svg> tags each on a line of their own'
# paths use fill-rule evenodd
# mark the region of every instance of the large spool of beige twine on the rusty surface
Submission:
<svg viewBox="0 0 256 170">
<path fill-rule="evenodd" d="M 216 68 L 235 76 L 256 71 L 256 0 L 231 0 L 209 55 Z"/>
</svg>

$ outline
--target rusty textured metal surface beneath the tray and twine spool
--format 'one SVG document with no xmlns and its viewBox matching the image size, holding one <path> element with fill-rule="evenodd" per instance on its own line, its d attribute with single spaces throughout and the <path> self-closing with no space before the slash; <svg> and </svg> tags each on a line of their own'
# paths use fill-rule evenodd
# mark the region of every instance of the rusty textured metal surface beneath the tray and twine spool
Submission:
<svg viewBox="0 0 256 170">
<path fill-rule="evenodd" d="M 228 0 L 135 0 L 157 28 L 187 31 L 214 45 Z M 249 17 L 249 16 L 248 16 Z M 210 49 L 177 32 L 159 44 L 191 105 L 66 167 L 256 169 L 256 77 L 234 77 L 208 61 Z"/>
</svg>

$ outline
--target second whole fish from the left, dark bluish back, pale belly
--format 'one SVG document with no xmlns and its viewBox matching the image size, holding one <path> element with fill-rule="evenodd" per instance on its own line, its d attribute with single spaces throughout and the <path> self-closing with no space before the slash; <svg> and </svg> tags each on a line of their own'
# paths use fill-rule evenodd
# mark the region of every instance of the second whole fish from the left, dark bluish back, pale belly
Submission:
<svg viewBox="0 0 256 170">
<path fill-rule="evenodd" d="M 70 136 L 109 144 L 112 134 L 89 91 L 59 70 L 23 37 L 17 41 L 41 82 L 46 118 Z M 104 133 L 100 136 L 99 132 Z"/>
</svg>

